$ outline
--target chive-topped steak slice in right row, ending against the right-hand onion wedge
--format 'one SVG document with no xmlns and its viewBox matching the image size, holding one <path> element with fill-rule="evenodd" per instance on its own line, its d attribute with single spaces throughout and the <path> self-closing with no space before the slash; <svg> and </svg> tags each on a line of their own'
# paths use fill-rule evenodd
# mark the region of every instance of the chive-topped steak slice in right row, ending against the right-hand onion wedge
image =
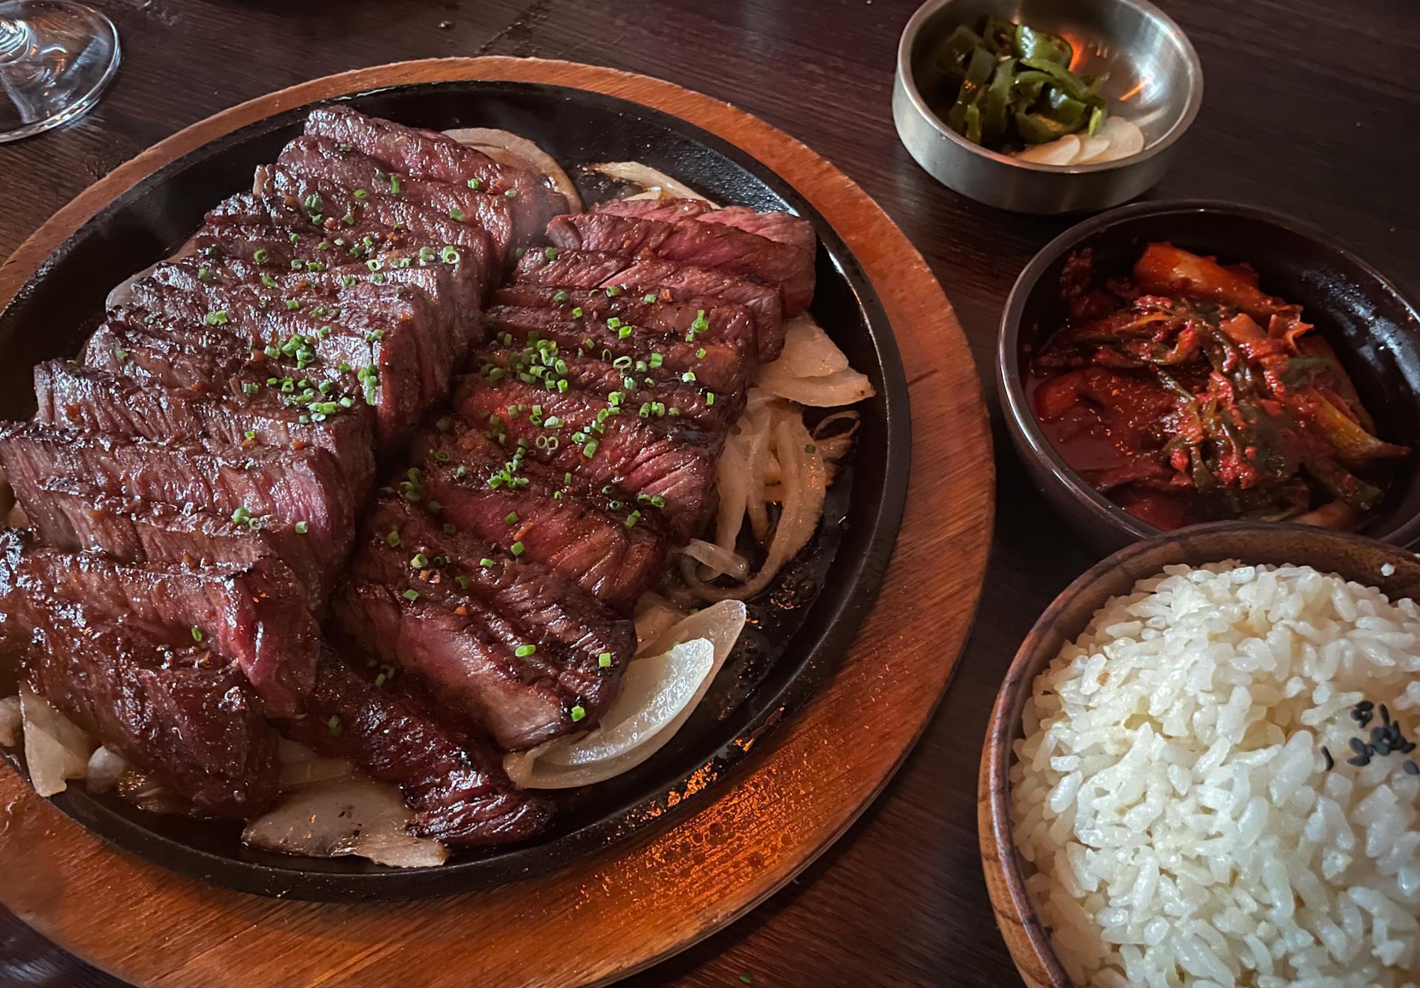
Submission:
<svg viewBox="0 0 1420 988">
<path fill-rule="evenodd" d="M 758 363 L 748 309 L 713 298 L 646 302 L 649 297 L 622 292 L 608 298 L 605 290 L 569 292 L 514 285 L 494 294 L 497 304 L 487 312 L 488 332 L 494 339 L 506 339 L 504 345 L 550 339 L 568 352 L 581 349 L 606 361 L 625 356 L 633 366 L 655 365 L 676 378 L 690 370 L 699 383 L 717 393 L 748 388 Z M 567 301 L 557 304 L 559 298 Z M 575 309 L 582 309 L 582 315 L 574 317 Z M 619 325 L 611 326 L 608 319 L 618 319 Z M 632 332 L 623 335 L 628 326 Z"/>
</svg>

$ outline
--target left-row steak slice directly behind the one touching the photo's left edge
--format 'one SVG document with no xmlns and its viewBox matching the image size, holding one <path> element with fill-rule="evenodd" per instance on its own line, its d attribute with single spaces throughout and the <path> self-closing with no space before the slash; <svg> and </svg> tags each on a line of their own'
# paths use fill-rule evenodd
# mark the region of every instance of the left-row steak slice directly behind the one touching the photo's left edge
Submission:
<svg viewBox="0 0 1420 988">
<path fill-rule="evenodd" d="M 248 380 L 251 393 L 212 395 L 160 382 L 139 385 L 67 361 L 34 368 L 34 395 L 40 424 L 102 432 L 141 439 L 210 440 L 229 446 L 329 450 L 349 481 L 364 490 L 375 471 L 373 436 L 366 406 L 311 422 L 300 407 L 290 407 L 280 388 Z M 307 422 L 301 422 L 305 416 Z"/>
</svg>

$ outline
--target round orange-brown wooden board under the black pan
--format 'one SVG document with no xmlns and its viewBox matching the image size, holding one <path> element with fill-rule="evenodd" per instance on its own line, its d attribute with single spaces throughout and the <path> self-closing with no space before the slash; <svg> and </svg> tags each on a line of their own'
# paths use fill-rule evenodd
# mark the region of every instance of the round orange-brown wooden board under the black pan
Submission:
<svg viewBox="0 0 1420 988">
<path fill-rule="evenodd" d="M 971 626 L 994 468 L 981 382 L 926 263 L 842 172 L 784 132 L 680 87 L 517 58 L 410 61 L 233 106 L 122 165 L 0 267 L 0 302 L 115 196 L 280 111 L 385 85 L 506 79 L 577 87 L 686 119 L 792 185 L 876 288 L 907 368 L 913 470 L 897 549 L 851 653 L 737 785 L 670 829 L 574 866 L 449 899 L 261 899 L 129 857 L 0 772 L 0 901 L 60 945 L 143 988 L 599 985 L 731 923 L 824 852 L 883 788 L 937 706 Z"/>
</svg>

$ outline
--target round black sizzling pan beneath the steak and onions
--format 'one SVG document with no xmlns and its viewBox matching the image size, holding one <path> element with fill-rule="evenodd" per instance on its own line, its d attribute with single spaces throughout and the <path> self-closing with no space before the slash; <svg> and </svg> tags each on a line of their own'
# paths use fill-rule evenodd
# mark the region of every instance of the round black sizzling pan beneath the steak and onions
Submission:
<svg viewBox="0 0 1420 988">
<path fill-rule="evenodd" d="M 241 891 L 311 900 L 415 899 L 501 884 L 565 864 L 665 826 L 734 785 L 754 755 L 750 738 L 784 730 L 852 644 L 892 556 L 907 490 L 907 386 L 883 309 L 852 253 L 788 185 L 733 145 L 636 104 L 562 87 L 454 82 L 393 87 L 345 98 L 358 109 L 430 129 L 494 126 L 578 165 L 640 160 L 711 199 L 790 210 L 818 233 L 812 314 L 866 373 L 876 397 L 859 406 L 851 468 L 829 491 L 819 534 L 781 579 L 751 602 L 751 623 L 696 715 L 653 759 L 628 775 L 555 794 L 558 813 L 537 840 L 459 853 L 436 869 L 386 869 L 244 846 L 240 828 L 156 816 L 114 796 L 71 788 L 53 799 L 115 846 L 189 877 Z M 168 165 L 67 240 L 0 312 L 0 417 L 33 413 L 30 368 L 78 352 L 116 282 L 168 254 L 203 213 L 250 186 L 301 131 L 310 106 L 220 138 Z M 588 186 L 591 190 L 591 186 Z M 758 745 L 754 745 L 755 750 Z M 23 758 L 6 751 L 17 771 Z M 694 778 L 694 795 L 687 782 Z M 709 779 L 707 785 L 699 785 Z"/>
</svg>

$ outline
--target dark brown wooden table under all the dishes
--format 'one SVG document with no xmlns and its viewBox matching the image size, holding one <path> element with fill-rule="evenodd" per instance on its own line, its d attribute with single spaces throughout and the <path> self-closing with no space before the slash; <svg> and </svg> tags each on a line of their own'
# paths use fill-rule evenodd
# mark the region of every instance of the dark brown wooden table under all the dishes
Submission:
<svg viewBox="0 0 1420 988">
<path fill-rule="evenodd" d="M 1152 196 L 1304 217 L 1420 297 L 1414 0 L 1164 1 L 1203 58 L 1207 92 Z M 977 860 L 981 737 L 1017 643 L 1093 556 L 1017 464 L 995 407 L 993 353 L 1017 271 L 1069 220 L 961 199 L 897 143 L 893 60 L 917 0 L 98 3 L 118 24 L 124 68 L 77 125 L 0 146 L 0 256 L 94 179 L 217 109 L 312 77 L 432 55 L 542 55 L 659 75 L 781 126 L 882 203 L 941 278 L 993 405 L 998 522 L 981 619 L 922 744 L 852 832 L 750 917 L 625 984 L 1020 984 Z M 0 911 L 0 987 L 11 985 L 119 982 Z"/>
</svg>

